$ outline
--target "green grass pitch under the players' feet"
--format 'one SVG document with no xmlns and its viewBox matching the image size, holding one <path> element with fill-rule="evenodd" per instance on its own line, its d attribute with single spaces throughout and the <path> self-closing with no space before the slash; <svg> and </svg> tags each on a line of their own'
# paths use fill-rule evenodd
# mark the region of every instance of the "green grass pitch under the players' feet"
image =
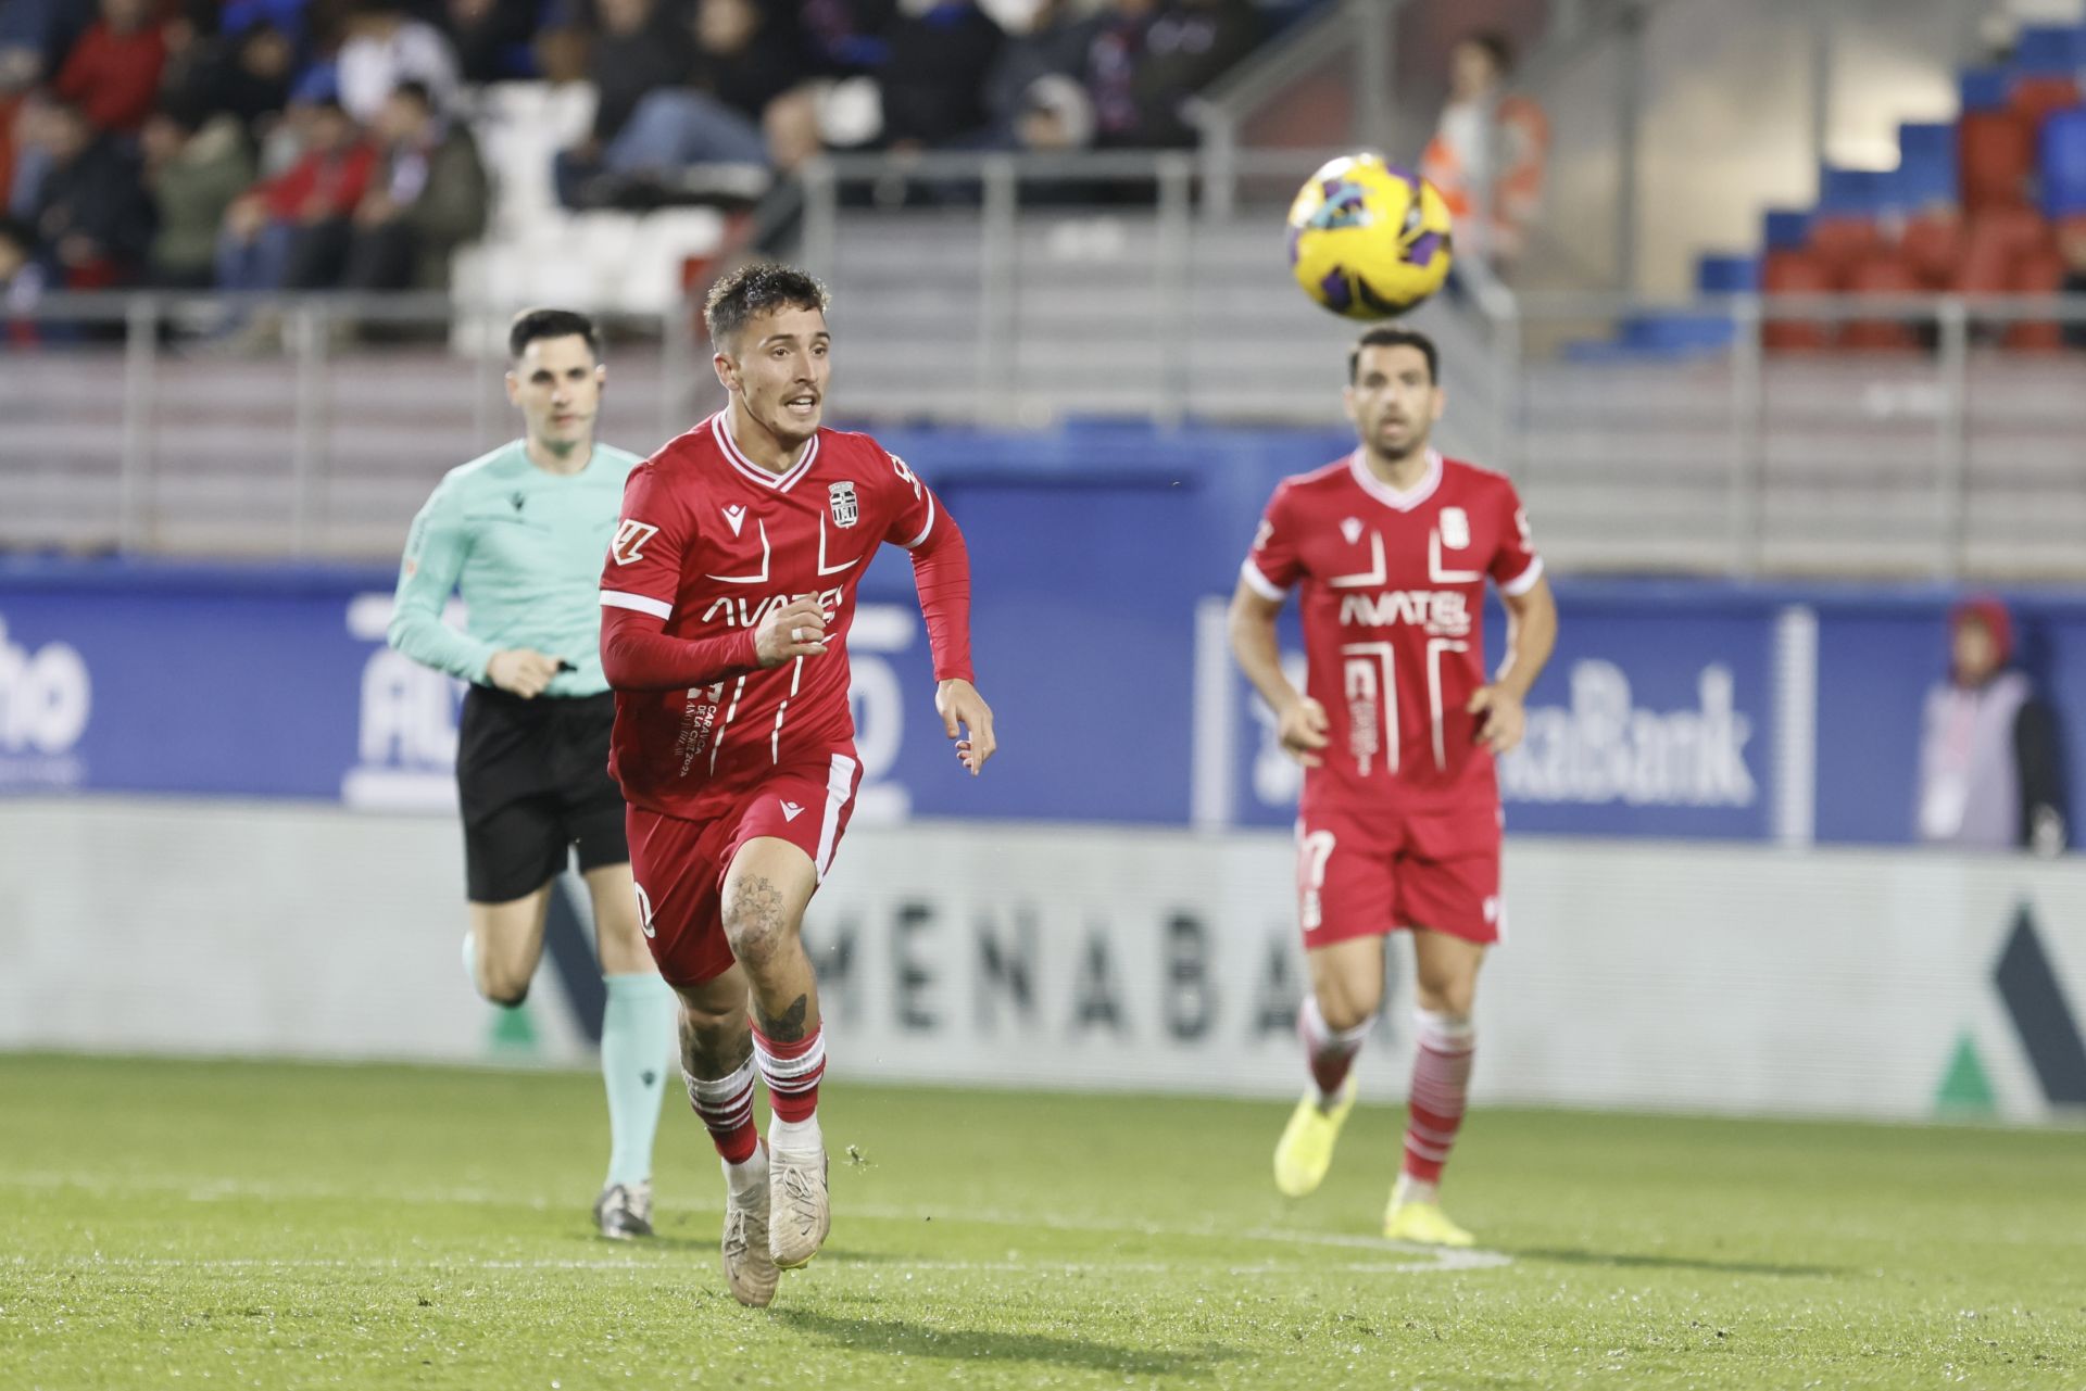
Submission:
<svg viewBox="0 0 2086 1391">
<path fill-rule="evenodd" d="M 836 1078 L 749 1312 L 678 1101 L 611 1245 L 586 1074 L 0 1057 L 0 1387 L 2086 1385 L 2078 1130 L 1481 1109 L 1452 1268 L 1375 1239 L 1393 1109 L 1302 1203 L 1283 1116 Z"/>
</svg>

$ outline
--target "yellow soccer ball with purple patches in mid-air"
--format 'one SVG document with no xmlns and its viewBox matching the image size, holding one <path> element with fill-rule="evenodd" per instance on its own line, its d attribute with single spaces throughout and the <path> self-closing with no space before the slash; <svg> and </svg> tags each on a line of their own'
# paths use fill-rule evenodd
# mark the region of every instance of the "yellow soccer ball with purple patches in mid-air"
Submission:
<svg viewBox="0 0 2086 1391">
<path fill-rule="evenodd" d="M 1289 271 L 1304 294 L 1350 319 L 1389 319 L 1448 279 L 1448 204 L 1433 184 L 1348 154 L 1289 204 Z"/>
</svg>

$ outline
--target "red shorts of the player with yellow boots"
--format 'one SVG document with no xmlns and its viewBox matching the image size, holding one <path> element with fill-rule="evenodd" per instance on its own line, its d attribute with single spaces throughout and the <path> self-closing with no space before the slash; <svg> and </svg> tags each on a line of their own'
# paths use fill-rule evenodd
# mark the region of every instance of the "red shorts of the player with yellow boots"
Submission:
<svg viewBox="0 0 2086 1391">
<path fill-rule="evenodd" d="M 1498 803 L 1306 813 L 1297 820 L 1297 922 L 1306 951 L 1400 928 L 1500 941 Z"/>
</svg>

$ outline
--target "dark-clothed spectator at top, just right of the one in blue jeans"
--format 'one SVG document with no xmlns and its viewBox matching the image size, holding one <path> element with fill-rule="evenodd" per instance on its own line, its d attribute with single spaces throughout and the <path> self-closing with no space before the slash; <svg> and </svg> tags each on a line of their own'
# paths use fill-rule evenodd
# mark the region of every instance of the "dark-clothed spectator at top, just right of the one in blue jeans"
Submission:
<svg viewBox="0 0 2086 1391">
<path fill-rule="evenodd" d="M 903 8 L 876 67 L 884 144 L 918 150 L 974 136 L 987 123 L 983 75 L 1005 33 L 974 0 L 909 0 Z"/>
</svg>

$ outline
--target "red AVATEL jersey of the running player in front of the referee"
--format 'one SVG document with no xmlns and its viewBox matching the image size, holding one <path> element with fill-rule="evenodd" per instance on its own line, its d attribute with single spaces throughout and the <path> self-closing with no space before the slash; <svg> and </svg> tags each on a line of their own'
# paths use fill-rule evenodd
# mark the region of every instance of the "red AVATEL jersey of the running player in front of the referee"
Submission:
<svg viewBox="0 0 2086 1391">
<path fill-rule="evenodd" d="M 617 690 L 609 772 L 624 799 L 703 817 L 707 792 L 778 767 L 853 755 L 847 632 L 855 588 L 882 542 L 922 546 L 953 530 L 935 494 L 866 434 L 820 430 L 786 473 L 732 442 L 724 413 L 630 471 L 601 603 L 651 613 L 665 636 L 751 632 L 791 599 L 818 596 L 826 651 L 688 690 Z"/>
</svg>

